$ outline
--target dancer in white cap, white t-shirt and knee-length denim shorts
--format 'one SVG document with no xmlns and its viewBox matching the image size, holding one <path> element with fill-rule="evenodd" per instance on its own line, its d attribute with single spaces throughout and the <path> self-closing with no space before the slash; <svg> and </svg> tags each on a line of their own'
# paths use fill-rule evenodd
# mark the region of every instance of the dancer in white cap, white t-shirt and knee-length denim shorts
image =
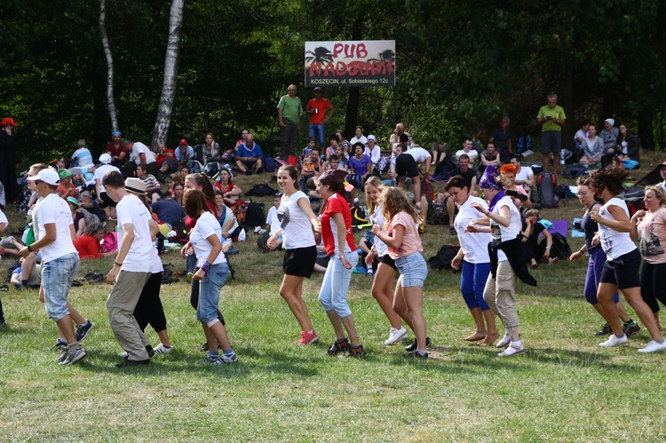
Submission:
<svg viewBox="0 0 666 443">
<path fill-rule="evenodd" d="M 60 182 L 58 172 L 40 170 L 34 181 L 36 193 L 44 198 L 36 207 L 35 227 L 39 240 L 20 249 L 21 257 L 28 257 L 34 250 L 42 253 L 42 285 L 44 305 L 49 318 L 58 325 L 59 332 L 67 340 L 67 348 L 59 358 L 60 365 L 71 365 L 85 357 L 85 351 L 76 340 L 72 318 L 67 310 L 67 295 L 79 266 L 79 255 L 74 247 L 74 221 L 67 202 L 56 190 Z"/>
</svg>

